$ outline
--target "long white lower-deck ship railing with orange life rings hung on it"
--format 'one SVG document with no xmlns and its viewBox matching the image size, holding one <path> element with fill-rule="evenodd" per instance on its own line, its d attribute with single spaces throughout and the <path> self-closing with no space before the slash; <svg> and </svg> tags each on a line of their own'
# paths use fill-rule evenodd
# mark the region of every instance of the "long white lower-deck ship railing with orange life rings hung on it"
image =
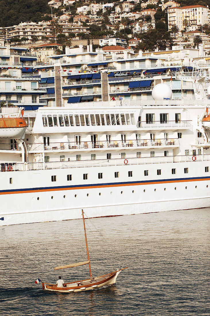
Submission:
<svg viewBox="0 0 210 316">
<path fill-rule="evenodd" d="M 128 162 L 127 162 L 128 161 Z M 28 163 L 28 170 L 43 169 L 68 169 L 84 167 L 110 167 L 110 166 L 128 166 L 128 165 L 147 165 L 160 163 L 180 163 L 191 162 L 195 167 L 196 162 L 210 161 L 210 155 L 197 155 L 196 160 L 189 156 L 161 156 L 161 157 L 141 157 L 141 158 L 118 158 L 118 159 L 100 159 L 100 160 L 80 160 L 80 161 L 53 161 L 53 162 L 33 162 Z M 183 167 L 184 168 L 184 167 Z"/>
</svg>

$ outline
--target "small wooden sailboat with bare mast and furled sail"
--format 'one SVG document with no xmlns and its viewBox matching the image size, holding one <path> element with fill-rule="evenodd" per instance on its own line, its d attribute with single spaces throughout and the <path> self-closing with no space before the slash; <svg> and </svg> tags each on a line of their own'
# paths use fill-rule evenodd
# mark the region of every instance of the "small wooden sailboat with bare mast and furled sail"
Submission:
<svg viewBox="0 0 210 316">
<path fill-rule="evenodd" d="M 93 277 L 91 272 L 91 266 L 90 266 L 90 257 L 88 252 L 88 246 L 87 246 L 87 236 L 86 236 L 86 230 L 85 230 L 85 219 L 84 219 L 84 212 L 82 210 L 82 219 L 83 219 L 83 225 L 84 225 L 84 233 L 85 233 L 85 241 L 86 241 L 86 249 L 87 249 L 87 261 L 78 262 L 75 264 L 66 264 L 66 265 L 60 265 L 58 267 L 55 267 L 54 270 L 61 270 L 61 269 L 67 269 L 67 268 L 73 268 L 78 267 L 80 265 L 89 265 L 89 271 L 90 271 L 90 278 L 87 280 L 81 280 L 81 281 L 74 281 L 70 283 L 64 283 L 64 287 L 58 288 L 57 284 L 51 284 L 51 283 L 45 283 L 42 282 L 42 289 L 45 291 L 53 291 L 53 292 L 61 292 L 61 293 L 69 293 L 69 292 L 81 292 L 81 291 L 87 291 L 87 290 L 93 290 L 93 289 L 99 289 L 105 285 L 113 285 L 116 283 L 116 279 L 118 274 L 124 270 L 127 269 L 117 269 L 116 271 L 113 271 L 111 273 L 105 274 L 103 276 L 97 276 Z"/>
</svg>

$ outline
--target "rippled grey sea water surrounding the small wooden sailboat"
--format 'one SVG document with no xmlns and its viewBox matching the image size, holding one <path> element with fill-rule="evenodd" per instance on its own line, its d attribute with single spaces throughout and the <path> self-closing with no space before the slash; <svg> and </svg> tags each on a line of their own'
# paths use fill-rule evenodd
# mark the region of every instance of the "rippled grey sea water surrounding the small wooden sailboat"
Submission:
<svg viewBox="0 0 210 316">
<path fill-rule="evenodd" d="M 124 268 L 116 285 L 60 294 L 55 283 L 88 278 L 88 265 L 53 267 L 87 259 L 82 220 L 0 228 L 2 315 L 210 315 L 210 209 L 87 220 L 93 276 Z"/>
</svg>

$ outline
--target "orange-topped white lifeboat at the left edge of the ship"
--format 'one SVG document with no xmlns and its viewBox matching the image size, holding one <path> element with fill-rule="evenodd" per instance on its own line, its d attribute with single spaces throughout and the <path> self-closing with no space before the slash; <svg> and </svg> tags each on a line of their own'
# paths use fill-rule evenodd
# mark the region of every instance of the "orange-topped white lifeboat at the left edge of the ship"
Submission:
<svg viewBox="0 0 210 316">
<path fill-rule="evenodd" d="M 21 139 L 25 137 L 27 124 L 24 119 L 0 119 L 0 138 Z"/>
</svg>

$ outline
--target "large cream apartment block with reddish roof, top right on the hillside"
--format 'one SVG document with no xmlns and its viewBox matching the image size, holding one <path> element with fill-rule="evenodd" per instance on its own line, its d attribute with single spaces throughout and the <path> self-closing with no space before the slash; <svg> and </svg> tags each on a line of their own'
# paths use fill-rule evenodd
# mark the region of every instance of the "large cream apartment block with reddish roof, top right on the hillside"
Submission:
<svg viewBox="0 0 210 316">
<path fill-rule="evenodd" d="M 187 31 L 195 31 L 200 25 L 208 23 L 208 7 L 192 5 L 168 8 L 169 30 L 173 25 L 177 25 L 180 30 L 183 30 L 185 28 L 184 19 L 188 21 Z"/>
</svg>

